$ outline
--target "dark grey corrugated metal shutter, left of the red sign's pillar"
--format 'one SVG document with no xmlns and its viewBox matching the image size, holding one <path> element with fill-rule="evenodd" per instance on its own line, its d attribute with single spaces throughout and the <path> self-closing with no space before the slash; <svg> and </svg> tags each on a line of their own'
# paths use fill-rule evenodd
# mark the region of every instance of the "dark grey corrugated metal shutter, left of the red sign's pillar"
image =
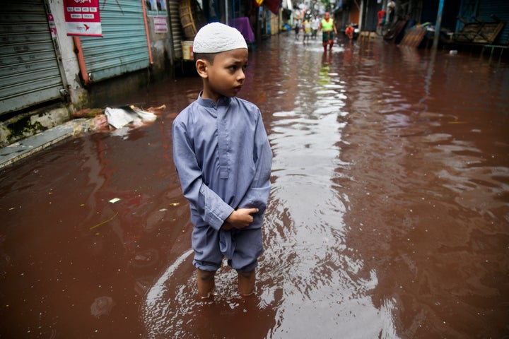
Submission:
<svg viewBox="0 0 509 339">
<path fill-rule="evenodd" d="M 0 39 L 0 114 L 62 97 L 42 0 L 1 0 Z"/>
</svg>

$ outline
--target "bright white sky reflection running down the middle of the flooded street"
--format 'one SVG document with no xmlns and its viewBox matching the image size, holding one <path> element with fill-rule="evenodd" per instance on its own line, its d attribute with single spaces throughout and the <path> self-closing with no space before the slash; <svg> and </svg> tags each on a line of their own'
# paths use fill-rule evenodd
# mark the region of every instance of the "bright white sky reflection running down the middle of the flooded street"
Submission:
<svg viewBox="0 0 509 339">
<path fill-rule="evenodd" d="M 333 54 L 322 54 L 320 63 L 315 52 L 299 67 L 298 105 L 272 113 L 274 183 L 263 268 L 281 300 L 269 338 L 394 338 L 392 300 L 373 305 L 368 291 L 378 284 L 376 272 L 361 273 L 363 262 L 345 242 L 349 198 L 337 182 L 349 175 L 340 157 L 349 112 Z"/>
</svg>

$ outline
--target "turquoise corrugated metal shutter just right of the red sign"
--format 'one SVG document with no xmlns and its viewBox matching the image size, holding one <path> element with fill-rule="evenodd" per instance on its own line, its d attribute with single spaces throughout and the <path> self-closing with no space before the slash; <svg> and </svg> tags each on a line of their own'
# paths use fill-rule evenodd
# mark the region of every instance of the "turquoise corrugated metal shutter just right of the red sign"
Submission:
<svg viewBox="0 0 509 339">
<path fill-rule="evenodd" d="M 99 1 L 103 37 L 80 37 L 91 81 L 112 78 L 149 66 L 141 1 Z"/>
</svg>

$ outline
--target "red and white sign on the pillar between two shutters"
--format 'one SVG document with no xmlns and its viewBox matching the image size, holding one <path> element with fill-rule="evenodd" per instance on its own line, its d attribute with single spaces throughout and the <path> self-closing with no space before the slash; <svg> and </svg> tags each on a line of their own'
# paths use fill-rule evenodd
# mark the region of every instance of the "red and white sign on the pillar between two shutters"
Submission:
<svg viewBox="0 0 509 339">
<path fill-rule="evenodd" d="M 67 35 L 102 37 L 99 0 L 64 0 Z"/>
</svg>

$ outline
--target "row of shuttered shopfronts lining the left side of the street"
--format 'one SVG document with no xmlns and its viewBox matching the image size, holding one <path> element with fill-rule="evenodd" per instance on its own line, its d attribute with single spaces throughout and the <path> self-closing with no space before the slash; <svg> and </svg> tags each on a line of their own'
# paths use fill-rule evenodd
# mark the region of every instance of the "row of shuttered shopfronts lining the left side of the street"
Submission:
<svg viewBox="0 0 509 339">
<path fill-rule="evenodd" d="M 186 20 L 195 26 L 248 18 L 254 40 L 274 25 L 271 11 L 279 11 L 279 3 L 263 1 L 99 0 L 101 35 L 87 36 L 68 34 L 66 6 L 73 1 L 83 3 L 0 2 L 0 147 L 62 124 L 80 109 L 103 107 L 112 97 L 175 77 L 187 62 L 185 6 L 193 9 L 194 18 Z"/>
</svg>

